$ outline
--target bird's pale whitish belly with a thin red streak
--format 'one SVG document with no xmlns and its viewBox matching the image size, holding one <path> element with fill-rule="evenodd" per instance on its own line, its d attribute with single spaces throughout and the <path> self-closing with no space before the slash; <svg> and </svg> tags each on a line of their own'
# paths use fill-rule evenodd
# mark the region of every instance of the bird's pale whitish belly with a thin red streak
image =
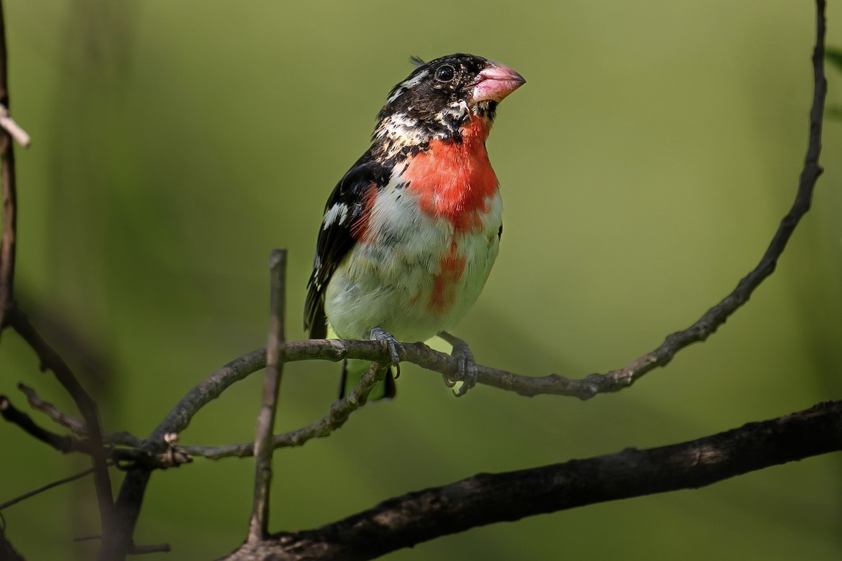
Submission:
<svg viewBox="0 0 842 561">
<path fill-rule="evenodd" d="M 491 272 L 502 211 L 496 192 L 475 231 L 455 231 L 448 220 L 419 213 L 409 189 L 387 186 L 371 210 L 373 241 L 358 242 L 328 284 L 325 312 L 333 331 L 365 339 L 380 327 L 411 342 L 455 325 Z M 459 267 L 450 267 L 454 262 Z"/>
</svg>

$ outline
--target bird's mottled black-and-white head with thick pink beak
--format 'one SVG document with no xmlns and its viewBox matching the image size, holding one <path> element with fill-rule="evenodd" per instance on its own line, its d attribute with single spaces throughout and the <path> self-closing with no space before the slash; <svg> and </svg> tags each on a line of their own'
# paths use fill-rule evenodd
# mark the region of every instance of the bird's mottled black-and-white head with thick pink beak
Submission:
<svg viewBox="0 0 842 561">
<path fill-rule="evenodd" d="M 497 104 L 525 82 L 509 66 L 482 56 L 457 54 L 421 63 L 392 88 L 377 116 L 374 140 L 460 139 L 462 126 L 472 119 L 490 127 Z"/>
</svg>

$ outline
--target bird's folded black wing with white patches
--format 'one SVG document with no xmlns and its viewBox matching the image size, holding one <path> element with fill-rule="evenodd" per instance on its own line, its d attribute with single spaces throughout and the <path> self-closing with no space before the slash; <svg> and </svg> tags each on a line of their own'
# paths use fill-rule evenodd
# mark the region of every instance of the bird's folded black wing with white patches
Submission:
<svg viewBox="0 0 842 561">
<path fill-rule="evenodd" d="M 355 236 L 359 233 L 366 201 L 370 200 L 369 191 L 385 187 L 391 175 L 380 162 L 370 161 L 369 158 L 370 152 L 366 152 L 339 180 L 324 207 L 324 220 L 318 233 L 316 258 L 307 283 L 304 308 L 304 329 L 310 331 L 313 339 L 323 339 L 328 335 L 324 291 L 336 267 L 357 242 Z"/>
</svg>

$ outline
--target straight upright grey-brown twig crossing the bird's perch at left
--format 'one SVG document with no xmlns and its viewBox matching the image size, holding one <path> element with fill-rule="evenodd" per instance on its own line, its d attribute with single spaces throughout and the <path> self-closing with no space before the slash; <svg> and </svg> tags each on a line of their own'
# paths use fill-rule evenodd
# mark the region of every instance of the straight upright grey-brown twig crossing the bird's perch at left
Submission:
<svg viewBox="0 0 842 561">
<path fill-rule="evenodd" d="M 266 350 L 266 377 L 263 405 L 258 414 L 254 437 L 254 502 L 248 524 L 248 542 L 257 543 L 269 535 L 269 488 L 272 483 L 274 417 L 278 409 L 280 375 L 284 369 L 284 294 L 286 250 L 275 249 L 269 255 L 271 294 L 269 345 Z"/>
</svg>

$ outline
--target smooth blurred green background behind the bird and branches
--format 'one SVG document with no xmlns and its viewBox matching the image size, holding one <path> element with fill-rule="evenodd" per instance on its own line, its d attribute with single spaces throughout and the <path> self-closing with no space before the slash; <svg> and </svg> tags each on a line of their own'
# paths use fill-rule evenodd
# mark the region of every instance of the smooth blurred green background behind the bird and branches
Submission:
<svg viewBox="0 0 842 561">
<path fill-rule="evenodd" d="M 454 331 L 481 363 L 582 377 L 689 325 L 759 260 L 807 140 L 812 2 L 281 3 L 12 0 L 18 297 L 100 399 L 146 435 L 201 378 L 264 344 L 270 248 L 290 251 L 290 338 L 322 205 L 365 151 L 408 56 L 466 51 L 528 83 L 488 149 L 505 236 Z M 829 45 L 842 10 L 829 7 Z M 842 73 L 829 69 L 832 94 Z M 842 398 L 842 123 L 779 270 L 710 341 L 588 402 L 477 388 L 456 400 L 407 366 L 398 399 L 275 456 L 271 528 L 314 527 L 393 495 L 653 447 Z M 12 332 L 0 392 L 72 404 Z M 253 437 L 261 376 L 201 411 L 185 443 Z M 285 370 L 279 430 L 323 415 L 338 366 Z M 49 424 L 48 421 L 43 421 Z M 0 501 L 85 468 L 0 424 Z M 242 541 L 253 463 L 154 474 L 136 541 L 214 558 Z M 120 475 L 115 474 L 120 480 Z M 30 559 L 89 558 L 89 479 L 3 511 Z M 483 527 L 390 559 L 838 559 L 839 454 L 714 485 Z"/>
</svg>

